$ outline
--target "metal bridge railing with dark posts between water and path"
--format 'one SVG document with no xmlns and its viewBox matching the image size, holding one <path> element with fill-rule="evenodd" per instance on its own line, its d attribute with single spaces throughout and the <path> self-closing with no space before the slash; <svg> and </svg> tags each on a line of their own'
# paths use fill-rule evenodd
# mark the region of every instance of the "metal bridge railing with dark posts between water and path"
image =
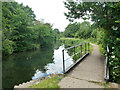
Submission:
<svg viewBox="0 0 120 90">
<path fill-rule="evenodd" d="M 79 47 L 79 51 L 76 52 L 76 48 Z M 69 49 L 73 49 L 73 55 L 71 55 L 69 58 L 66 58 L 65 59 L 65 55 L 64 55 L 64 51 L 65 50 L 69 50 Z M 75 46 L 72 46 L 72 47 L 68 47 L 66 49 L 63 49 L 62 50 L 62 54 L 63 54 L 63 73 L 66 73 L 68 72 L 70 69 L 72 69 L 78 62 L 82 61 L 82 59 L 84 59 L 88 54 L 89 54 L 89 43 L 84 43 L 84 44 L 80 44 L 80 45 L 75 45 Z M 67 63 L 67 60 L 69 60 L 70 58 L 73 58 L 75 57 L 76 55 L 80 55 L 80 58 L 75 60 L 75 62 L 70 65 L 69 67 L 67 67 L 67 69 L 65 69 L 65 63 Z M 76 58 L 75 58 L 76 59 Z"/>
</svg>

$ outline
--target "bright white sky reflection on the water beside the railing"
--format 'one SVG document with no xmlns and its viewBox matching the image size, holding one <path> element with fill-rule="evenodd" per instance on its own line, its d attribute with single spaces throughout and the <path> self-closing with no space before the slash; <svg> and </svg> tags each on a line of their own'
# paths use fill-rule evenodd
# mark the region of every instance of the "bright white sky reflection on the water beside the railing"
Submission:
<svg viewBox="0 0 120 90">
<path fill-rule="evenodd" d="M 64 45 L 60 46 L 58 49 L 54 49 L 54 55 L 53 55 L 53 62 L 48 63 L 44 69 L 46 72 L 41 72 L 40 70 L 37 70 L 34 77 L 32 79 L 37 79 L 46 75 L 54 74 L 54 73 L 62 73 L 63 72 L 63 57 L 62 57 L 62 50 L 64 49 Z M 68 51 L 64 52 L 65 59 L 69 58 Z M 69 67 L 71 64 L 73 64 L 73 59 L 70 58 L 65 63 L 65 68 Z"/>
</svg>

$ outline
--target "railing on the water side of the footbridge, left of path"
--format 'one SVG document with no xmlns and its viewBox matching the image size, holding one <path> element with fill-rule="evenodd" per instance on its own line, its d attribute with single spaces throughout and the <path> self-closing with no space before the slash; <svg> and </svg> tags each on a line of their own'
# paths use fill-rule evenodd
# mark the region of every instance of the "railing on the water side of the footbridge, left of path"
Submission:
<svg viewBox="0 0 120 90">
<path fill-rule="evenodd" d="M 83 45 L 85 45 L 84 47 L 85 47 L 85 49 L 83 48 Z M 78 52 L 75 52 L 75 49 L 76 49 L 76 47 L 79 47 L 80 46 L 80 51 L 78 51 Z M 77 55 L 77 54 L 79 54 L 80 53 L 80 58 L 78 59 L 78 60 L 76 60 L 76 62 L 75 63 L 73 63 L 72 65 L 70 65 L 70 66 L 74 66 L 76 63 L 78 63 L 79 61 L 81 61 L 85 56 L 87 56 L 88 54 L 89 54 L 89 43 L 84 43 L 84 44 L 80 44 L 80 45 L 75 45 L 75 46 L 72 46 L 72 47 L 68 47 L 68 48 L 66 48 L 66 49 L 63 49 L 62 50 L 62 53 L 63 53 L 63 73 L 66 73 L 68 70 L 70 70 L 72 67 L 70 67 L 70 68 L 68 68 L 68 70 L 65 70 L 65 61 L 67 61 L 69 58 L 67 58 L 67 59 L 65 59 L 65 56 L 64 56 L 64 51 L 65 50 L 68 50 L 68 49 L 72 49 L 72 48 L 74 48 L 74 50 L 73 50 L 73 52 L 74 52 L 74 54 L 72 55 L 72 56 L 70 56 L 70 57 L 73 57 L 73 56 L 75 56 L 75 55 Z M 82 53 L 83 53 L 83 51 L 85 52 L 85 54 L 83 55 Z M 88 52 L 87 52 L 88 51 Z"/>
</svg>

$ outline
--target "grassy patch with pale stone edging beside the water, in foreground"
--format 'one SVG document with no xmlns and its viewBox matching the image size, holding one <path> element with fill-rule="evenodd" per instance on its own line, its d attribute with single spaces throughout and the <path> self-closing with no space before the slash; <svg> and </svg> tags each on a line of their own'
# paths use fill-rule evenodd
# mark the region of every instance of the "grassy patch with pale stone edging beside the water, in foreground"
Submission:
<svg viewBox="0 0 120 90">
<path fill-rule="evenodd" d="M 46 77 L 15 85 L 14 88 L 60 88 L 58 83 L 63 77 L 63 74 L 51 74 Z"/>
</svg>

